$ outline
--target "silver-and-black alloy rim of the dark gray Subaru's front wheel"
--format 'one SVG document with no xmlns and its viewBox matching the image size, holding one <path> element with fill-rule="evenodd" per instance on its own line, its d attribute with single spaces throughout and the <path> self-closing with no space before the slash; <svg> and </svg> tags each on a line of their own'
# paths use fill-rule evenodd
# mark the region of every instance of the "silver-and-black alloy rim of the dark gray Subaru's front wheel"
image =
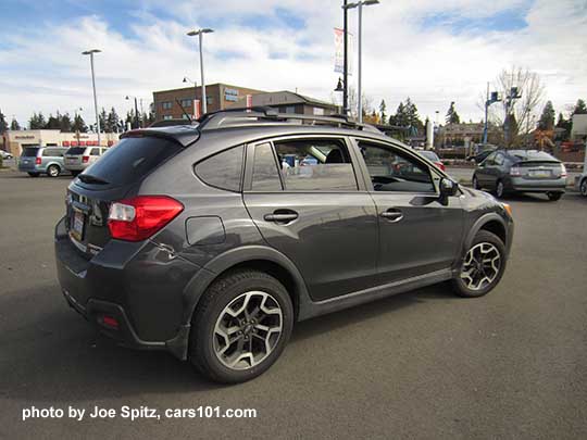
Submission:
<svg viewBox="0 0 587 440">
<path fill-rule="evenodd" d="M 499 275 L 501 254 L 488 242 L 480 242 L 469 250 L 461 268 L 461 279 L 471 290 L 482 290 Z"/>
</svg>

